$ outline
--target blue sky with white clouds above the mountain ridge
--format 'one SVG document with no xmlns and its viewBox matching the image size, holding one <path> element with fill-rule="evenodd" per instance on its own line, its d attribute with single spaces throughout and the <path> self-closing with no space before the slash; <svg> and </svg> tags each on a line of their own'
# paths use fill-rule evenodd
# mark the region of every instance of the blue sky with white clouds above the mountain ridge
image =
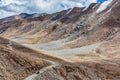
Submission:
<svg viewBox="0 0 120 80">
<path fill-rule="evenodd" d="M 104 0 L 0 0 L 0 18 L 20 13 L 54 13 Z"/>
</svg>

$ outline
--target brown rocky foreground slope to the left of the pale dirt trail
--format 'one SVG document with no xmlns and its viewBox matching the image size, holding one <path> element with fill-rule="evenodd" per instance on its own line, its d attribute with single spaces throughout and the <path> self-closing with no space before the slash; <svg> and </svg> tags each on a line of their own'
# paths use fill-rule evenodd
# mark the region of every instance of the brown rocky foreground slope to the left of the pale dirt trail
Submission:
<svg viewBox="0 0 120 80">
<path fill-rule="evenodd" d="M 52 61 L 61 61 L 41 53 L 0 38 L 0 80 L 23 80 Z"/>
</svg>

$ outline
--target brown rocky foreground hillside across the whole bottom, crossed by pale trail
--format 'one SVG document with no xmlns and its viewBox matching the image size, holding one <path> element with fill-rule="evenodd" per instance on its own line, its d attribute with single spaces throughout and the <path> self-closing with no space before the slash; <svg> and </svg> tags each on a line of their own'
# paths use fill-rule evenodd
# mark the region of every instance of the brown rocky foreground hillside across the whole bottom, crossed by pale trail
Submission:
<svg viewBox="0 0 120 80">
<path fill-rule="evenodd" d="M 80 60 L 73 63 L 14 42 L 9 44 L 4 38 L 0 38 L 0 44 L 1 80 L 105 80 L 120 77 L 119 63 L 102 59 L 97 54 L 79 55 Z"/>
</svg>

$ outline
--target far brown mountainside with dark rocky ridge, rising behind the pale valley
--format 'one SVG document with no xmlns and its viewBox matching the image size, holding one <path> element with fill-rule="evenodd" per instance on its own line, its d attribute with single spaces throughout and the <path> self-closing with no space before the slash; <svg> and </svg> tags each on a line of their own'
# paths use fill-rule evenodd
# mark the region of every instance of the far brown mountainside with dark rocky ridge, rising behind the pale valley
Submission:
<svg viewBox="0 0 120 80">
<path fill-rule="evenodd" d="M 101 8 L 105 3 L 107 5 Z M 0 33 L 3 37 L 37 48 L 40 43 L 55 40 L 60 40 L 64 49 L 106 41 L 119 31 L 119 1 L 105 3 L 4 23 L 0 25 Z"/>
</svg>

